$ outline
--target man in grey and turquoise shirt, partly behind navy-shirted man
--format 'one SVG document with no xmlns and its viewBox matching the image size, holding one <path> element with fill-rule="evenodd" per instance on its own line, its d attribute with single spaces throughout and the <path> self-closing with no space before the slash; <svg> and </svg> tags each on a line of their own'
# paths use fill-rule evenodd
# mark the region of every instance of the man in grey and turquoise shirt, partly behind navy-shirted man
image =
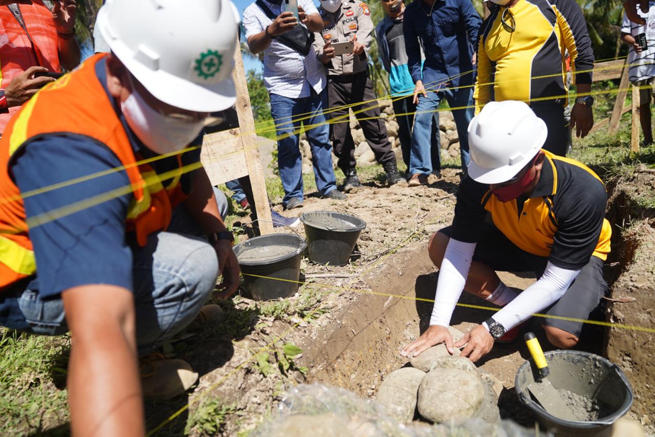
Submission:
<svg viewBox="0 0 655 437">
<path fill-rule="evenodd" d="M 414 124 L 416 104 L 412 95 L 414 81 L 407 67 L 405 36 L 403 35 L 403 18 L 405 4 L 402 0 L 381 0 L 386 16 L 375 27 L 378 55 L 387 73 L 391 98 L 398 122 L 398 139 L 403 162 L 409 170 L 409 151 L 411 149 L 411 129 Z M 428 141 L 428 139 L 425 139 Z M 432 113 L 432 135 L 430 135 L 430 156 L 432 171 L 441 170 L 441 141 L 439 136 L 439 113 Z M 409 174 L 411 176 L 411 174 Z"/>
</svg>

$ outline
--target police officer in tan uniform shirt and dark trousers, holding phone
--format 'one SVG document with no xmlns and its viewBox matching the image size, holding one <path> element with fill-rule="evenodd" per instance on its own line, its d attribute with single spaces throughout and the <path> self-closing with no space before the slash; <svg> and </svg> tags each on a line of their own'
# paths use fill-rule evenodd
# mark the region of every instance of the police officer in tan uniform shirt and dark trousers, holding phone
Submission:
<svg viewBox="0 0 655 437">
<path fill-rule="evenodd" d="M 373 83 L 366 66 L 371 45 L 373 22 L 366 3 L 359 0 L 321 0 L 318 11 L 323 18 L 323 31 L 316 35 L 316 51 L 327 69 L 327 96 L 330 118 L 330 139 L 338 165 L 346 176 L 343 191 L 348 193 L 362 186 L 355 168 L 355 145 L 350 134 L 348 107 L 352 107 L 366 141 L 375 152 L 375 160 L 384 166 L 389 185 L 403 181 L 398 173 L 396 155 L 391 150 L 384 121 L 380 119 Z M 352 41 L 352 53 L 335 56 L 331 43 Z M 364 102 L 363 104 L 356 104 Z M 356 104 L 356 105 L 353 105 Z M 350 106 L 352 105 L 352 106 Z M 364 109 L 364 110 L 362 110 Z"/>
</svg>

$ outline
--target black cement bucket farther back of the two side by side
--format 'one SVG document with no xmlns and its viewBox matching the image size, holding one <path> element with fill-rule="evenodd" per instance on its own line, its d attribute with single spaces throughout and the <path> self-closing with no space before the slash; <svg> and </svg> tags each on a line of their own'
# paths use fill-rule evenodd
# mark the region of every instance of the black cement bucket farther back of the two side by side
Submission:
<svg viewBox="0 0 655 437">
<path fill-rule="evenodd" d="M 320 264 L 345 265 L 366 222 L 350 214 L 331 211 L 303 212 L 309 259 Z"/>
</svg>

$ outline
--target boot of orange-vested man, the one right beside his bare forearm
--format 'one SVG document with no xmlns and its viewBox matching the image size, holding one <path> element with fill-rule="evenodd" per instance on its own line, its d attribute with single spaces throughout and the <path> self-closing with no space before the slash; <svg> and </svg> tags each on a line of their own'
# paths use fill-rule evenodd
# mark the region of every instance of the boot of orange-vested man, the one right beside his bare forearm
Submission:
<svg viewBox="0 0 655 437">
<path fill-rule="evenodd" d="M 174 398 L 198 381 L 198 373 L 186 361 L 167 360 L 159 352 L 152 352 L 139 361 L 141 388 L 146 398 Z"/>
</svg>

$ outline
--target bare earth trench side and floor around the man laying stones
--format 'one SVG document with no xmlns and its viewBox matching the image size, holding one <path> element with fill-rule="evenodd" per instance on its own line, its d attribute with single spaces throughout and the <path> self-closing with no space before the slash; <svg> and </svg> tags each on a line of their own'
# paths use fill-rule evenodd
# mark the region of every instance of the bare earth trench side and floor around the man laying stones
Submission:
<svg viewBox="0 0 655 437">
<path fill-rule="evenodd" d="M 502 273 L 510 286 L 526 288 L 534 278 Z M 335 385 L 374 398 L 386 375 L 407 364 L 402 348 L 428 327 L 438 274 L 430 262 L 426 242 L 409 246 L 387 259 L 374 273 L 365 276 L 358 297 L 333 314 L 333 324 L 316 330 L 302 343 L 305 365 L 312 369 L 309 380 Z M 393 295 L 393 296 L 390 296 Z M 462 294 L 461 303 L 489 303 Z M 453 326 L 467 332 L 491 311 L 458 307 Z M 504 385 L 499 407 L 504 418 L 532 427 L 533 415 L 519 404 L 514 393 L 515 371 L 529 356 L 522 342 L 496 345 L 481 362 L 482 368 Z"/>
</svg>

